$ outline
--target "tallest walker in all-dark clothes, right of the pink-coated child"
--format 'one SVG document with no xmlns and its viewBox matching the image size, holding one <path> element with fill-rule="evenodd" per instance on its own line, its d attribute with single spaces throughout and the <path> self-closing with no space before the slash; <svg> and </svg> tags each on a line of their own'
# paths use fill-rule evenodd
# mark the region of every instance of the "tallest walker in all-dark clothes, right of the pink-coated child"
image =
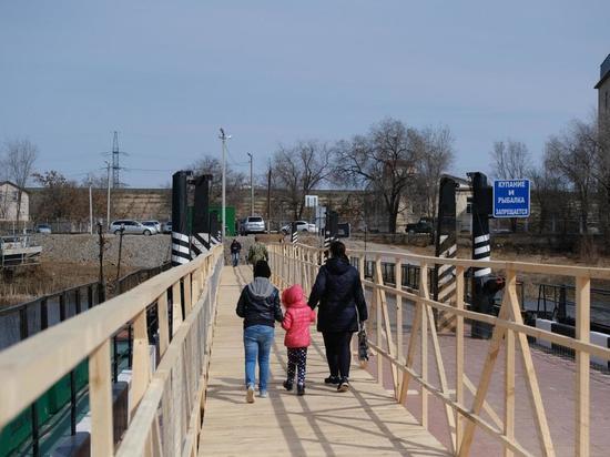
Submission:
<svg viewBox="0 0 610 457">
<path fill-rule="evenodd" d="M 368 318 L 358 271 L 345 255 L 345 244 L 331 244 L 331 258 L 319 268 L 307 302 L 312 309 L 319 304 L 317 329 L 324 337 L 331 376 L 326 384 L 336 384 L 338 392 L 349 389 L 352 335 Z"/>
</svg>

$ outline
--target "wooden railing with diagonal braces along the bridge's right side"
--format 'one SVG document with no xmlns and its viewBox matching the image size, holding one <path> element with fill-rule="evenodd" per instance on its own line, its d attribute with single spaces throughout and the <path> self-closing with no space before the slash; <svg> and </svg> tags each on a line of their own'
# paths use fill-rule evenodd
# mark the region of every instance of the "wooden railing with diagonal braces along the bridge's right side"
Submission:
<svg viewBox="0 0 610 457">
<path fill-rule="evenodd" d="M 299 283 L 305 291 L 311 291 L 323 258 L 322 251 L 305 245 L 271 244 L 270 261 L 274 272 L 273 281 L 279 286 Z M 526 448 L 519 444 L 516 430 L 516 402 L 531 404 L 531 420 L 538 435 L 537 445 L 545 456 L 555 455 L 553 439 L 542 403 L 539 379 L 532 360 L 528 337 L 542 338 L 556 345 L 572 349 L 576 353 L 573 392 L 558 393 L 558 400 L 573 396 L 573 449 L 577 456 L 589 455 L 590 448 L 590 357 L 610 359 L 610 349 L 589 342 L 590 285 L 592 278 L 610 280 L 610 268 L 588 268 L 563 265 L 541 265 L 532 263 L 471 261 L 458 258 L 438 258 L 410 255 L 397 252 L 349 251 L 348 255 L 357 258 L 360 278 L 369 296 L 369 321 L 367 329 L 369 344 L 376 355 L 376 375 L 384 382 L 384 362 L 389 364 L 392 387 L 397 402 L 408 404 L 411 392 L 409 386 L 416 383 L 420 388 L 418 412 L 420 423 L 428 428 L 429 397 L 436 397 L 443 404 L 450 436 L 453 454 L 469 455 L 475 430 L 480 429 L 499 443 L 505 456 L 530 456 L 538 454 L 537 448 Z M 365 258 L 375 262 L 374 281 L 364 277 Z M 396 285 L 384 284 L 382 260 L 395 262 Z M 400 286 L 401 265 L 416 264 L 420 267 L 418 291 Z M 455 267 L 456 291 L 450 303 L 440 303 L 430 298 L 428 271 L 435 265 Z M 480 314 L 466 309 L 464 301 L 465 271 L 469 267 L 490 267 L 506 277 L 506 287 L 498 316 Z M 517 296 L 517 274 L 546 274 L 567 276 L 576 284 L 576 338 L 559 335 L 523 324 Z M 388 302 L 392 301 L 392 306 Z M 409 322 L 404 321 L 404 306 L 414 307 Z M 444 356 L 447 348 L 441 347 L 437 332 L 436 315 L 455 316 L 455 326 L 450 332 L 453 356 L 451 378 L 447 375 Z M 466 319 L 466 323 L 465 323 Z M 492 326 L 492 334 L 487 344 L 485 362 L 476 385 L 465 369 L 465 324 L 479 322 Z M 409 331 L 406 332 L 405 328 Z M 445 335 L 443 335 L 445 336 Z M 430 346 L 431 342 L 431 347 Z M 407 343 L 404 346 L 404 343 Z M 406 347 L 406 349 L 404 349 Z M 429 354 L 431 349 L 431 354 Z M 445 349 L 445 351 L 443 351 Z M 505 358 L 498 364 L 499 355 Z M 528 395 L 516 392 L 516 357 L 521 359 L 522 376 Z M 502 366 L 504 365 L 504 366 Z M 431 369 L 429 369 L 431 367 Z M 496 413 L 488 402 L 488 393 L 495 369 L 502 373 L 504 380 L 504 417 Z M 429 372 L 436 372 L 437 382 Z M 451 383 L 450 383 L 451 382 Z M 529 398 L 529 399 L 528 399 Z M 469 400 L 468 400 L 469 399 Z M 496 402 L 497 403 L 497 402 Z M 485 412 L 485 416 L 484 413 Z M 486 417 L 491 418 L 491 420 Z M 558 430 L 556 434 L 565 434 Z M 556 435 L 557 436 L 557 435 Z M 408 438 L 408 437 L 405 437 Z M 565 449 L 562 449 L 565 450 Z"/>
</svg>

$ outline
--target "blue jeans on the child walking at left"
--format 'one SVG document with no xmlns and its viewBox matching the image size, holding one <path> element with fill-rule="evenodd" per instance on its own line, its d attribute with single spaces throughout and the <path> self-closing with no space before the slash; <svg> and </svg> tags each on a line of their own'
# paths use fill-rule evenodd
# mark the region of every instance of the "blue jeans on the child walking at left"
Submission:
<svg viewBox="0 0 610 457">
<path fill-rule="evenodd" d="M 254 387 L 256 358 L 258 358 L 258 389 L 267 389 L 270 377 L 270 352 L 273 344 L 274 328 L 267 325 L 251 325 L 244 328 L 244 349 L 246 386 Z"/>
</svg>

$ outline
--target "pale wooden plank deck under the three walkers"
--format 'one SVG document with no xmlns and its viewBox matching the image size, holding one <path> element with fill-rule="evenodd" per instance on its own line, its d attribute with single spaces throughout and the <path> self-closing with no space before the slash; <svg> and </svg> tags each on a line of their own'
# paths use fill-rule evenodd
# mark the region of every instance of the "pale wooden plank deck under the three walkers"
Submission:
<svg viewBox="0 0 610 457">
<path fill-rule="evenodd" d="M 276 328 L 270 397 L 245 403 L 242 319 L 235 304 L 251 268 L 225 267 L 212 351 L 200 455 L 203 456 L 445 456 L 447 451 L 364 369 L 353 367 L 352 390 L 337 394 L 327 375 L 321 336 L 307 360 L 307 393 L 282 387 L 284 331 Z M 312 328 L 313 329 L 313 328 Z"/>
</svg>

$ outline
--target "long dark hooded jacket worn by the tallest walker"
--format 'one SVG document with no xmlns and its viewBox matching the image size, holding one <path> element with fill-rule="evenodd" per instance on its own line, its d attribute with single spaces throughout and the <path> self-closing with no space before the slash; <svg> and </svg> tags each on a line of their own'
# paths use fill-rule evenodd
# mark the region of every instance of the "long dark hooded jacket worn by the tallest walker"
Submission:
<svg viewBox="0 0 610 457">
<path fill-rule="evenodd" d="M 314 309 L 318 303 L 319 332 L 357 332 L 357 316 L 368 318 L 360 276 L 347 258 L 331 258 L 319 268 L 308 305 Z"/>
</svg>

